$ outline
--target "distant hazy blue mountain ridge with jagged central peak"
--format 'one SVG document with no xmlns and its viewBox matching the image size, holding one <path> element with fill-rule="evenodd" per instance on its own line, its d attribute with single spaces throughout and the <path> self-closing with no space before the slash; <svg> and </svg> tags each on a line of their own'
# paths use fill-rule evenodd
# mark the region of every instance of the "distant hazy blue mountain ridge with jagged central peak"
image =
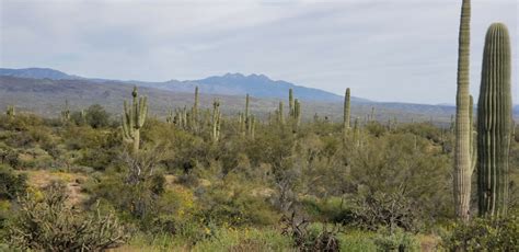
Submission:
<svg viewBox="0 0 519 252">
<path fill-rule="evenodd" d="M 343 96 L 326 92 L 320 89 L 305 88 L 282 80 L 272 80 L 264 75 L 226 73 L 223 76 L 214 76 L 200 80 L 170 80 L 164 82 L 146 82 L 146 81 L 123 81 L 84 78 L 72 76 L 59 70 L 49 68 L 25 68 L 25 69 L 7 69 L 0 68 L 0 76 L 31 78 L 31 79 L 50 79 L 50 80 L 89 80 L 97 83 L 111 82 L 123 84 L 135 84 L 138 87 L 168 90 L 173 92 L 193 92 L 198 87 L 200 92 L 208 94 L 222 95 L 245 95 L 250 94 L 255 98 L 276 98 L 284 99 L 288 95 L 288 90 L 293 89 L 296 96 L 304 101 L 342 101 Z M 366 99 L 351 98 L 354 102 L 369 102 Z"/>
</svg>

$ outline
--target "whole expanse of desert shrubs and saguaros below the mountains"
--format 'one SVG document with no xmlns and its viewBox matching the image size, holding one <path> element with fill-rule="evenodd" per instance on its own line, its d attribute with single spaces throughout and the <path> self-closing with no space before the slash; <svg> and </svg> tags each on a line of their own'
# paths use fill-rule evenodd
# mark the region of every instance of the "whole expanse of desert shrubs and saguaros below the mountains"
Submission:
<svg viewBox="0 0 519 252">
<path fill-rule="evenodd" d="M 485 38 L 469 93 L 462 1 L 457 114 L 450 125 L 302 118 L 291 89 L 267 115 L 149 110 L 137 87 L 120 114 L 64 101 L 58 118 L 0 116 L 0 250 L 515 251 L 519 137 L 508 30 Z M 286 103 L 285 103 L 286 102 Z"/>
</svg>

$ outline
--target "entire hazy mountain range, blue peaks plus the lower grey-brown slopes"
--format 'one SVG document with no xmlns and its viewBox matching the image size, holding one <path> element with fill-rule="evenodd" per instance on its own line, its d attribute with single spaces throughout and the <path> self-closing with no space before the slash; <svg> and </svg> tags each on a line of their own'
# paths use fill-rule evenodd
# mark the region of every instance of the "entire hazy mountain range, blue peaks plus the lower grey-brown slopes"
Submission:
<svg viewBox="0 0 519 252">
<path fill-rule="evenodd" d="M 200 80 L 146 82 L 85 78 L 48 68 L 0 68 L 0 107 L 15 104 L 22 111 L 53 116 L 59 114 L 68 100 L 72 110 L 99 103 L 111 113 L 119 114 L 123 100 L 129 99 L 132 85 L 140 87 L 140 93 L 150 98 L 151 110 L 158 116 L 164 116 L 172 107 L 191 106 L 195 87 L 199 87 L 203 107 L 210 107 L 212 100 L 219 99 L 228 114 L 243 110 L 244 95 L 249 93 L 253 98 L 251 111 L 266 116 L 277 108 L 279 101 L 287 105 L 288 90 L 292 89 L 295 96 L 303 103 L 303 117 L 310 118 L 318 113 L 338 121 L 344 99 L 323 90 L 272 80 L 264 75 L 226 73 Z M 455 113 L 452 105 L 383 103 L 355 96 L 351 105 L 353 116 L 360 118 L 374 107 L 379 121 L 397 117 L 400 121 L 448 123 Z M 519 114 L 519 106 L 515 112 Z"/>
</svg>

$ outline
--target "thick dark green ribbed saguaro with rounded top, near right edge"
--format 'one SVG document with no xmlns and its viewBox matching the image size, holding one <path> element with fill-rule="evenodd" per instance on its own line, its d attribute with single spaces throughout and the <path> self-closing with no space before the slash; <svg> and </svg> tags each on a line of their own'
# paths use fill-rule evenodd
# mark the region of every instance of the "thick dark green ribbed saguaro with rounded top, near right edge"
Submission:
<svg viewBox="0 0 519 252">
<path fill-rule="evenodd" d="M 511 54 L 508 28 L 488 27 L 477 105 L 477 199 L 481 216 L 506 215 L 512 135 Z"/>
</svg>

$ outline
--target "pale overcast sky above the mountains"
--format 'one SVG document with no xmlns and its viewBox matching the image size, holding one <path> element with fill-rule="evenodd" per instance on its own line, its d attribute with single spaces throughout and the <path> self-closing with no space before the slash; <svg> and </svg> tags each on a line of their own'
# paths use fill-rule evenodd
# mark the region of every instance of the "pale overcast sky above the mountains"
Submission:
<svg viewBox="0 0 519 252">
<path fill-rule="evenodd" d="M 455 103 L 461 0 L 0 0 L 0 67 L 106 79 L 227 72 L 373 101 Z M 507 24 L 517 87 L 517 0 L 472 0 L 471 92 L 486 28 Z"/>
</svg>

